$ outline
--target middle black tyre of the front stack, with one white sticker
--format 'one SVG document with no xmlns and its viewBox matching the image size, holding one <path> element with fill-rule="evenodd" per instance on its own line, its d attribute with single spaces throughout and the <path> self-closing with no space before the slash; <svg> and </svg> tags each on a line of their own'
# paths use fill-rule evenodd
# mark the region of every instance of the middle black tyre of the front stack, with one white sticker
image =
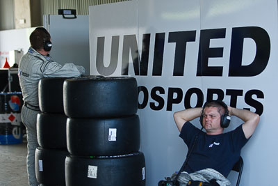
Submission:
<svg viewBox="0 0 278 186">
<path fill-rule="evenodd" d="M 67 119 L 67 150 L 72 155 L 122 155 L 139 148 L 138 115 Z"/>
</svg>

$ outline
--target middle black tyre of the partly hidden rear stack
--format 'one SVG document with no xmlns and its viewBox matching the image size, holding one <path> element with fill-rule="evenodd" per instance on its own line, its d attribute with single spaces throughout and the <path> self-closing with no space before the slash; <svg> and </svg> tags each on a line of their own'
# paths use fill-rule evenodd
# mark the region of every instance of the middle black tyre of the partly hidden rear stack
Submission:
<svg viewBox="0 0 278 186">
<path fill-rule="evenodd" d="M 39 113 L 37 116 L 38 144 L 42 148 L 67 150 L 67 116 Z"/>
</svg>

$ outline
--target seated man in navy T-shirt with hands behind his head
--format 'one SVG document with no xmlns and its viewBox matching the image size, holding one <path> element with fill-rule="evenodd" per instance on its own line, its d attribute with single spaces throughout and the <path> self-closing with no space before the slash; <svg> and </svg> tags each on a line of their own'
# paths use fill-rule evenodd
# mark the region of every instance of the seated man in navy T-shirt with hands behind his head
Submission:
<svg viewBox="0 0 278 186">
<path fill-rule="evenodd" d="M 244 123 L 235 130 L 223 133 L 224 127 L 229 125 L 229 116 L 237 116 Z M 190 123 L 197 117 L 200 117 L 201 125 L 206 132 L 201 132 Z M 220 175 L 219 178 L 208 176 L 208 180 L 214 178 L 218 180 L 219 185 L 229 185 L 229 180 L 226 178 L 239 160 L 241 148 L 254 133 L 259 123 L 259 115 L 245 109 L 228 107 L 224 102 L 215 100 L 206 102 L 204 108 L 175 112 L 174 121 L 181 132 L 179 137 L 188 146 L 188 152 L 195 144 L 188 162 L 182 170 L 185 172 L 179 176 L 179 182 L 186 185 L 188 180 L 196 178 L 195 173 L 204 175 L 211 173 L 215 175 L 216 173 L 216 175 Z M 228 181 L 228 183 L 221 184 L 221 180 L 226 183 Z"/>
</svg>

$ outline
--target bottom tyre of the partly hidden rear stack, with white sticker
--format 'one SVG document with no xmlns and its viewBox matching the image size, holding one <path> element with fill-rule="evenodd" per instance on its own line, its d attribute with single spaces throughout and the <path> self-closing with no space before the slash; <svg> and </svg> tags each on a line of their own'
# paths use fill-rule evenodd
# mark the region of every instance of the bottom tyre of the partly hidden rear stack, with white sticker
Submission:
<svg viewBox="0 0 278 186">
<path fill-rule="evenodd" d="M 35 150 L 35 177 L 42 185 L 65 185 L 66 150 L 38 147 Z"/>
</svg>

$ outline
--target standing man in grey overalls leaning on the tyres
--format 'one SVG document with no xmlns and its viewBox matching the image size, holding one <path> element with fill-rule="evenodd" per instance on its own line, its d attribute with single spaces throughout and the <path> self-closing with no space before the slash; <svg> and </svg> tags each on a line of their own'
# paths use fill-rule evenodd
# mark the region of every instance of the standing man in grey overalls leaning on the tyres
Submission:
<svg viewBox="0 0 278 186">
<path fill-rule="evenodd" d="M 51 61 L 51 36 L 43 27 L 36 28 L 30 35 L 31 47 L 19 62 L 18 76 L 24 106 L 22 122 L 27 131 L 27 172 L 29 185 L 38 186 L 35 178 L 35 149 L 38 147 L 36 121 L 40 112 L 38 104 L 38 82 L 44 77 L 79 77 L 85 69 L 82 66 L 66 63 L 60 65 Z M 49 90 L 51 91 L 51 90 Z"/>
</svg>

